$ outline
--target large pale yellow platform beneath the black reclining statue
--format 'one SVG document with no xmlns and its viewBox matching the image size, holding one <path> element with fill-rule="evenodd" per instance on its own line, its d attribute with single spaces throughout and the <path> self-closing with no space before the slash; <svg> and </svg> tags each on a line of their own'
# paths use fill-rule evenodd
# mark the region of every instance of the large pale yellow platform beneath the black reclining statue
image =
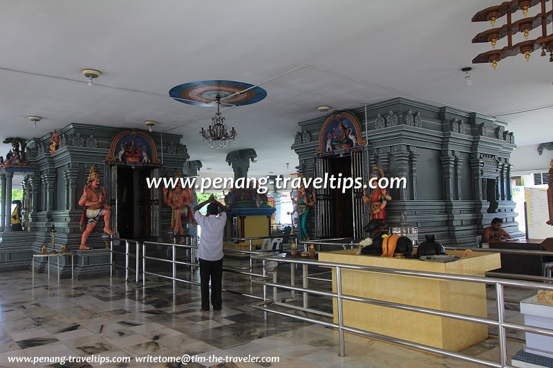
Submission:
<svg viewBox="0 0 553 368">
<path fill-rule="evenodd" d="M 321 262 L 357 264 L 390 269 L 429 271 L 458 275 L 483 276 L 486 271 L 501 267 L 499 253 L 472 253 L 453 262 L 430 262 L 405 258 L 382 258 L 356 255 L 357 250 L 319 253 Z M 460 256 L 462 251 L 448 251 Z M 416 276 L 391 275 L 371 271 L 341 270 L 343 294 L 418 307 L 487 317 L 485 284 L 437 280 Z M 336 272 L 332 271 L 332 291 L 336 292 Z M 334 322 L 338 322 L 337 300 L 334 302 Z M 420 344 L 460 351 L 488 337 L 487 326 L 402 311 L 362 302 L 344 300 L 344 325 L 410 340 Z"/>
</svg>

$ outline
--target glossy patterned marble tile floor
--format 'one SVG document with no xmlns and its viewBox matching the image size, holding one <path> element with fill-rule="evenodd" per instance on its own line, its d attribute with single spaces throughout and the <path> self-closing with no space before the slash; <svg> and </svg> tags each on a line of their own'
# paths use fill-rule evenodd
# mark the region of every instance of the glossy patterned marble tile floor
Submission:
<svg viewBox="0 0 553 368">
<path fill-rule="evenodd" d="M 185 271 L 186 272 L 186 271 Z M 284 274 L 290 274 L 288 273 Z M 184 277 L 184 276 L 183 276 Z M 194 275 L 197 279 L 197 274 Z M 259 293 L 248 278 L 225 273 L 227 289 Z M 516 300 L 528 291 L 509 290 L 509 318 L 517 320 Z M 489 296 L 493 296 L 493 289 Z M 286 296 L 283 295 L 283 298 Z M 281 298 L 281 295 L 279 295 Z M 199 287 L 172 285 L 155 276 L 145 287 L 122 278 L 46 280 L 30 271 L 0 273 L 0 367 L 100 367 L 99 362 L 15 363 L 10 357 L 131 357 L 130 362 L 102 367 L 477 367 L 468 362 L 405 349 L 346 334 L 346 356 L 338 356 L 337 331 L 263 312 L 252 299 L 223 293 L 223 310 L 200 311 Z M 316 302 L 316 303 L 315 303 Z M 323 298 L 313 304 L 328 303 Z M 493 315 L 495 302 L 489 300 Z M 497 340 L 490 338 L 465 354 L 498 361 Z M 523 346 L 523 336 L 509 335 L 509 356 Z M 144 363 L 145 356 L 265 356 L 278 363 Z"/>
</svg>

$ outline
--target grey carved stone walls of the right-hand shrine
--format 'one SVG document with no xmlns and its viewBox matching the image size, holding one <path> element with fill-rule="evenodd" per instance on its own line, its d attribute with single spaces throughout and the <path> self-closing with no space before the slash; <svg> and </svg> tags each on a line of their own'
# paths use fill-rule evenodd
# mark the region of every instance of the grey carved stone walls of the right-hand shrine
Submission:
<svg viewBox="0 0 553 368">
<path fill-rule="evenodd" d="M 510 180 L 509 157 L 516 145 L 513 133 L 505 130 L 507 124 L 402 98 L 366 106 L 366 115 L 365 108 L 350 112 L 359 119 L 368 141 L 363 152 L 365 180 L 373 165 L 386 177 L 407 179 L 405 189 L 388 191 L 392 196 L 386 206 L 388 223 L 399 223 L 404 213 L 408 223 L 419 227 L 420 241 L 433 233 L 438 241 L 453 246 L 476 243 L 476 236 L 494 217 L 502 218 L 512 235 L 522 235 L 515 222 Z M 292 149 L 299 156 L 298 170 L 307 177 L 315 175 L 317 165 L 328 167 L 325 161 L 332 159 L 318 157 L 315 151 L 328 117 L 298 123 L 301 132 Z M 355 191 L 354 201 L 361 201 L 361 195 L 362 190 Z M 310 215 L 310 236 L 332 238 L 332 220 L 320 217 L 321 211 L 317 203 L 316 215 Z M 366 224 L 367 206 L 360 215 Z"/>
</svg>

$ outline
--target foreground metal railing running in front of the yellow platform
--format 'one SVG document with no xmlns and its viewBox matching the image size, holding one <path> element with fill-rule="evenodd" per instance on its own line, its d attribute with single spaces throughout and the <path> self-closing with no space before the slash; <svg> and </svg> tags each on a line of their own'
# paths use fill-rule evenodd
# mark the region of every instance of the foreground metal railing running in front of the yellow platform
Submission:
<svg viewBox="0 0 553 368">
<path fill-rule="evenodd" d="M 259 258 L 259 256 L 253 255 L 252 258 Z M 286 258 L 279 258 L 279 257 L 269 257 L 269 258 L 263 258 L 265 261 L 272 261 L 272 262 L 285 262 L 290 264 L 301 264 L 303 265 L 309 265 L 309 264 L 316 264 L 317 266 L 322 267 L 332 267 L 335 269 L 336 273 L 336 286 L 337 291 L 336 292 L 330 292 L 330 291 L 315 291 L 307 289 L 306 287 L 295 287 L 295 286 L 288 286 L 285 284 L 277 284 L 276 282 L 266 282 L 263 280 L 253 280 L 252 282 L 255 284 L 261 284 L 264 287 L 278 287 L 281 289 L 288 289 L 288 290 L 294 290 L 294 291 L 300 291 L 303 293 L 313 293 L 315 295 L 319 296 L 329 296 L 332 298 L 337 298 L 337 309 L 336 312 L 338 314 L 338 323 L 335 322 L 326 322 L 321 321 L 319 319 L 315 318 L 308 318 L 305 316 L 298 316 L 294 313 L 288 313 L 285 311 L 279 311 L 277 309 L 271 309 L 270 305 L 275 303 L 275 300 L 263 300 L 263 302 L 258 302 L 252 304 L 252 308 L 259 309 L 264 312 L 264 315 L 267 315 L 267 312 L 270 313 L 276 313 L 281 316 L 288 316 L 291 318 L 297 318 L 299 320 L 304 320 L 306 322 L 312 322 L 319 325 L 324 325 L 328 327 L 335 327 L 339 329 L 339 345 L 340 345 L 340 356 L 345 356 L 346 349 L 345 349 L 345 340 L 344 340 L 344 331 L 353 332 L 353 333 L 359 333 L 363 336 L 367 336 L 370 338 L 377 338 L 379 340 L 384 340 L 387 342 L 393 342 L 398 345 L 402 345 L 405 347 L 411 347 L 415 349 L 420 349 L 422 351 L 427 351 L 429 353 L 434 354 L 441 354 L 444 356 L 449 356 L 451 358 L 458 358 L 461 360 L 465 360 L 468 362 L 474 362 L 480 365 L 486 365 L 488 367 L 506 367 L 507 366 L 507 334 L 506 329 L 515 329 L 518 331 L 524 331 L 524 332 L 531 332 L 531 333 L 538 333 L 545 336 L 552 336 L 553 337 L 553 330 L 551 329 L 543 329 L 539 327 L 529 327 L 526 325 L 518 325 L 516 323 L 506 322 L 505 321 L 505 300 L 504 300 L 504 293 L 503 288 L 505 286 L 509 287 L 522 287 L 527 289 L 543 289 L 543 290 L 550 290 L 553 291 L 553 285 L 547 285 L 547 284 L 538 284 L 536 282 L 526 282 L 526 281 L 514 281 L 514 280 L 501 280 L 498 278 L 485 278 L 480 276 L 467 276 L 467 275 L 451 275 L 451 274 L 445 274 L 445 273 L 432 273 L 432 272 L 423 272 L 423 271 L 408 271 L 408 270 L 400 270 L 400 269 L 386 269 L 382 267 L 368 267 L 368 266 L 358 266 L 354 264 L 340 264 L 340 263 L 332 263 L 332 262 L 319 262 L 315 260 L 301 260 L 301 259 L 286 259 Z M 386 302 L 384 300 L 375 300 L 371 298 L 362 298 L 358 296 L 350 296 L 345 295 L 341 291 L 341 270 L 348 269 L 348 270 L 356 270 L 356 271 L 372 271 L 377 273 L 386 273 L 391 275 L 405 275 L 405 276 L 417 276 L 422 278 L 434 278 L 438 280 L 453 280 L 453 281 L 462 281 L 462 282 L 476 282 L 481 284 L 491 284 L 495 285 L 496 287 L 496 297 L 497 297 L 497 313 L 498 318 L 497 320 L 492 320 L 489 318 L 482 318 L 478 316 L 470 316 L 467 314 L 462 313 L 454 313 L 449 311 L 440 311 L 437 309 L 430 309 L 430 308 L 424 308 L 424 307 L 417 307 L 410 304 L 400 304 L 396 302 Z M 444 349 L 431 347 L 429 345 L 423 345 L 417 342 L 411 342 L 407 340 L 402 340 L 399 338 L 393 338 L 391 336 L 382 335 L 380 333 L 373 333 L 371 331 L 366 331 L 363 329 L 357 329 L 355 327 L 350 327 L 344 325 L 344 314 L 343 314 L 343 300 L 350 300 L 354 302 L 362 302 L 366 304 L 375 304 L 382 307 L 391 307 L 396 309 L 402 309 L 404 311 L 412 311 L 417 313 L 424 313 L 429 314 L 431 316 L 440 316 L 444 318 L 454 318 L 457 320 L 464 320 L 467 322 L 476 322 L 480 324 L 484 324 L 487 326 L 493 326 L 498 328 L 498 340 L 499 340 L 499 350 L 500 350 L 500 362 L 492 362 L 490 360 L 483 360 L 480 358 L 467 356 L 464 354 L 459 354 L 453 351 L 447 351 Z"/>
</svg>

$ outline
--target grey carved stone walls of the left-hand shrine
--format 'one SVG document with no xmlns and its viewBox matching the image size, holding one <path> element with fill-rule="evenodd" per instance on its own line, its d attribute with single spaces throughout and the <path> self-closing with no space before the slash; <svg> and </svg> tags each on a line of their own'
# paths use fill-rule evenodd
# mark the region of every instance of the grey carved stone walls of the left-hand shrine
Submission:
<svg viewBox="0 0 553 368">
<path fill-rule="evenodd" d="M 57 250 L 62 245 L 65 245 L 68 250 L 78 248 L 82 235 L 79 231 L 79 221 L 83 211 L 78 201 L 92 165 L 96 166 L 101 176 L 102 186 L 105 186 L 109 192 L 112 206 L 111 226 L 114 229 L 116 217 L 113 215 L 115 206 L 113 191 L 116 191 L 117 180 L 112 175 L 111 165 L 106 164 L 106 156 L 113 137 L 122 130 L 126 129 L 68 124 L 57 130 L 60 142 L 54 155 L 50 154 L 50 134 L 30 139 L 27 146 L 28 160 L 35 168 L 35 173 L 26 177 L 28 183 L 26 186 L 29 187 L 32 198 L 30 231 L 11 233 L 5 231 L 0 235 L 0 271 L 28 268 L 32 253 L 39 252 L 44 244 L 47 244 L 50 251 L 50 226 L 52 225 L 56 230 Z M 180 144 L 181 135 L 138 131 L 153 139 L 158 159 L 162 160 L 159 167 L 153 168 L 152 175 L 172 177 L 177 169 L 187 173 L 186 163 L 189 155 L 186 146 Z M 198 166 L 197 163 L 196 166 Z M 158 216 L 152 217 L 151 236 L 165 236 L 171 222 L 171 209 L 162 204 L 161 187 L 158 190 L 152 190 L 151 203 L 152 209 L 158 213 Z M 100 239 L 101 226 L 103 226 L 102 220 L 96 228 L 98 233 L 88 238 L 88 245 L 104 246 Z M 79 261 L 75 260 L 75 262 Z M 66 271 L 62 270 L 62 272 Z"/>
</svg>

